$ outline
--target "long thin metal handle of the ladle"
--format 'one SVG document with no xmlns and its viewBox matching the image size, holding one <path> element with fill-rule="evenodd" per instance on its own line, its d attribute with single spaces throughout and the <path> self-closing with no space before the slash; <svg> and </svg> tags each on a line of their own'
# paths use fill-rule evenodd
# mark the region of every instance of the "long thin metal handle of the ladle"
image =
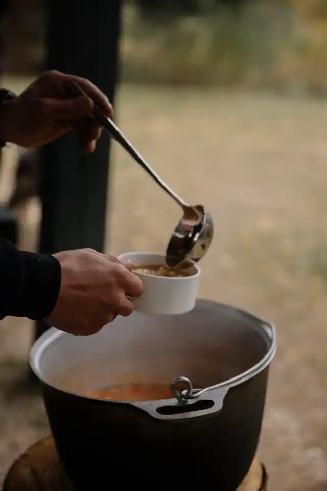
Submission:
<svg viewBox="0 0 327 491">
<path fill-rule="evenodd" d="M 74 82 L 71 82 L 74 86 L 76 95 L 87 95 L 83 89 Z M 131 142 L 125 137 L 124 133 L 119 129 L 119 127 L 110 118 L 106 118 L 99 107 L 95 104 L 94 117 L 101 126 L 103 126 L 108 133 L 118 142 L 130 155 L 136 160 L 136 162 L 143 167 L 143 169 L 153 178 L 153 180 L 172 197 L 175 202 L 182 208 L 187 208 L 188 203 L 184 202 L 181 197 L 178 196 L 166 183 L 159 177 L 159 175 L 152 169 L 150 164 L 145 160 L 145 158 L 139 153 L 136 148 L 131 144 Z"/>
</svg>

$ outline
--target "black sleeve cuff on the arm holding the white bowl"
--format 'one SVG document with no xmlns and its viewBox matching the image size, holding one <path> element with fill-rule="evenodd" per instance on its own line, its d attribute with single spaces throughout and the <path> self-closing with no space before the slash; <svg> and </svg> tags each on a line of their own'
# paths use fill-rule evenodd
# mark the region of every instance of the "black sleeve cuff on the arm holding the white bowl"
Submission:
<svg viewBox="0 0 327 491">
<path fill-rule="evenodd" d="M 48 317 L 56 305 L 60 284 L 61 267 L 54 256 L 19 251 L 0 239 L 0 319 Z"/>
</svg>

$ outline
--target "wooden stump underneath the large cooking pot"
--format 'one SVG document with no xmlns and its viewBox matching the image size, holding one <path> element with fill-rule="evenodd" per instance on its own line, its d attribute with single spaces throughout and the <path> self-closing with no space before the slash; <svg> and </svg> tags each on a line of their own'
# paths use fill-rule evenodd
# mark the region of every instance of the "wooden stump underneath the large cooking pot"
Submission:
<svg viewBox="0 0 327 491">
<path fill-rule="evenodd" d="M 238 491 L 266 491 L 267 475 L 254 459 Z M 11 466 L 3 491 L 76 491 L 67 478 L 51 436 L 28 448 Z M 95 490 L 96 491 L 96 490 Z"/>
</svg>

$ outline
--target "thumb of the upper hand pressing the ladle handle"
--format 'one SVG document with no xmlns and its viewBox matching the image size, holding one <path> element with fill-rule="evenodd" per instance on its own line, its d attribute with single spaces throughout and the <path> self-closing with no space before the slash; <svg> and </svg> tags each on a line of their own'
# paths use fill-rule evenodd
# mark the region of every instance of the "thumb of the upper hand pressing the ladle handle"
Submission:
<svg viewBox="0 0 327 491">
<path fill-rule="evenodd" d="M 43 99 L 46 114 L 53 119 L 81 119 L 93 115 L 94 102 L 87 96 L 73 99 Z"/>
</svg>

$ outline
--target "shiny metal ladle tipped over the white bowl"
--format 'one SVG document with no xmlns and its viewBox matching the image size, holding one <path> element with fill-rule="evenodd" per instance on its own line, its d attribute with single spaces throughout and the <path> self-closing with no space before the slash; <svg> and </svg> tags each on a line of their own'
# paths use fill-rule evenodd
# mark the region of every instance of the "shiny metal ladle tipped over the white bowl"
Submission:
<svg viewBox="0 0 327 491">
<path fill-rule="evenodd" d="M 78 84 L 71 83 L 75 95 L 87 95 Z M 183 217 L 175 227 L 166 250 L 166 264 L 169 267 L 186 267 L 190 262 L 199 262 L 207 253 L 213 239 L 214 224 L 211 214 L 203 205 L 189 205 L 178 196 L 152 169 L 112 119 L 104 116 L 97 105 L 94 108 L 94 117 L 183 210 Z"/>
</svg>

